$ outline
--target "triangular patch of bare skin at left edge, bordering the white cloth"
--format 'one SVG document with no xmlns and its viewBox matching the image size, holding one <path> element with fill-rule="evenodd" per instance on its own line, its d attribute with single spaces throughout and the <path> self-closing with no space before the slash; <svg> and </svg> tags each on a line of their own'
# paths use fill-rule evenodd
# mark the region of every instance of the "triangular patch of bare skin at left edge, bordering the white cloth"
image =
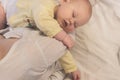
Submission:
<svg viewBox="0 0 120 80">
<path fill-rule="evenodd" d="M 2 38 L 2 36 L 0 37 Z M 0 39 L 0 60 L 5 57 L 9 49 L 17 40 L 18 39 Z"/>
</svg>

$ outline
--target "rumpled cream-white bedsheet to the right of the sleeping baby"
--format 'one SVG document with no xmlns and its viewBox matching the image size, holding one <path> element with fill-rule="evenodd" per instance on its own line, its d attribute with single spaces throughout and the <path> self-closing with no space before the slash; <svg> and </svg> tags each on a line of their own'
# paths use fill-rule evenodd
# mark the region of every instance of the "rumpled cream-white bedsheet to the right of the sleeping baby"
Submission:
<svg viewBox="0 0 120 80">
<path fill-rule="evenodd" d="M 91 20 L 76 30 L 71 53 L 81 80 L 120 80 L 119 6 L 120 0 L 95 0 Z"/>
</svg>

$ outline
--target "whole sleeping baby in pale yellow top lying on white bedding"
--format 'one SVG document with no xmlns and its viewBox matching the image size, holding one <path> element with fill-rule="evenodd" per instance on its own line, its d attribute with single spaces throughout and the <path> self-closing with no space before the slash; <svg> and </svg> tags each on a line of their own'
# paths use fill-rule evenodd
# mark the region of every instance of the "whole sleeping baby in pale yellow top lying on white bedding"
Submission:
<svg viewBox="0 0 120 80">
<path fill-rule="evenodd" d="M 10 26 L 36 28 L 46 36 L 61 41 L 69 49 L 74 41 L 67 33 L 85 24 L 91 16 L 88 0 L 60 0 L 59 3 L 55 0 L 18 0 L 17 9 L 18 12 L 9 19 Z M 79 71 L 69 50 L 60 62 L 66 73 L 79 80 Z"/>
</svg>

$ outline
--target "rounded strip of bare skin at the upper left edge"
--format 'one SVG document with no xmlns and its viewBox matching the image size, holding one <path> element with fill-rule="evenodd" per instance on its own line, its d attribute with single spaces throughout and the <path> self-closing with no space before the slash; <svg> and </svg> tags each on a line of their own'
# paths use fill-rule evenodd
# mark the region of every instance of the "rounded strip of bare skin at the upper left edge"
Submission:
<svg viewBox="0 0 120 80">
<path fill-rule="evenodd" d="M 6 22 L 5 21 L 5 12 L 4 12 L 2 5 L 0 4 L 0 29 L 3 29 L 5 22 Z"/>
</svg>

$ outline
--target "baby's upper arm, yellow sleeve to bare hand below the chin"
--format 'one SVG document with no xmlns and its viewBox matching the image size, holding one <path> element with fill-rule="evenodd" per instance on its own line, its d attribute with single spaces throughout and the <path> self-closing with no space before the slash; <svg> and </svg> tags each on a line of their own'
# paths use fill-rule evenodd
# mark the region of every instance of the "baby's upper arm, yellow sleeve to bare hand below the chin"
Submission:
<svg viewBox="0 0 120 80">
<path fill-rule="evenodd" d="M 49 11 L 47 11 L 46 8 L 35 8 L 33 10 L 33 19 L 37 25 L 37 28 L 40 29 L 40 31 L 42 31 L 45 35 L 62 41 L 68 48 L 71 48 L 74 44 L 72 38 L 65 31 L 63 31 L 58 22 L 50 16 L 52 14 L 48 12 Z"/>
</svg>

